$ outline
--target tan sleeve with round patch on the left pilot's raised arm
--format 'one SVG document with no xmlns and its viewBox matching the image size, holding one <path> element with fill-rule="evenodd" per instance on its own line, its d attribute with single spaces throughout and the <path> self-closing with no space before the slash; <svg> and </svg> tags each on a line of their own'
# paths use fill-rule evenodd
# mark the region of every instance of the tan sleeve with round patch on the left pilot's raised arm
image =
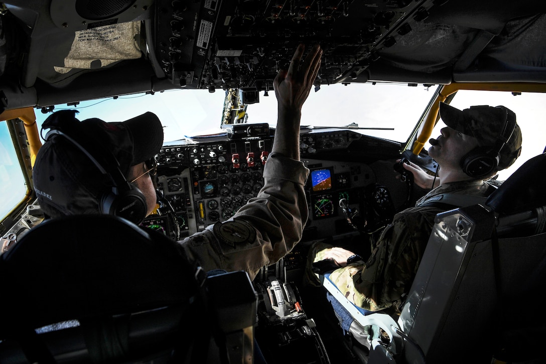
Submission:
<svg viewBox="0 0 546 364">
<path fill-rule="evenodd" d="M 188 258 L 205 271 L 244 270 L 254 279 L 260 268 L 276 263 L 300 241 L 308 218 L 308 172 L 300 161 L 270 154 L 258 196 L 231 219 L 179 242 Z"/>
</svg>

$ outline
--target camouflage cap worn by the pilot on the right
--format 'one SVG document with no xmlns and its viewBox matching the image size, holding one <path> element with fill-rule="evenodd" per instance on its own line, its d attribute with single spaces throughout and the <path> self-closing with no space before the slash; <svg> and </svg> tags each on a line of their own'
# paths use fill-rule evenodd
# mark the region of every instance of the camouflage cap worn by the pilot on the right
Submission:
<svg viewBox="0 0 546 364">
<path fill-rule="evenodd" d="M 459 110 L 441 102 L 440 117 L 450 128 L 478 139 L 479 146 L 498 151 L 498 171 L 511 166 L 521 154 L 521 130 L 514 112 L 504 106 Z"/>
</svg>

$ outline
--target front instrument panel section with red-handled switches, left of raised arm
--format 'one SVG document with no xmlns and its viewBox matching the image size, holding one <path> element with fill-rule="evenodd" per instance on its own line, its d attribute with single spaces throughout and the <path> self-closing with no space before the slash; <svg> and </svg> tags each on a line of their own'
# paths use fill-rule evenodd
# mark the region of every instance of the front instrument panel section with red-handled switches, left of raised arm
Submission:
<svg viewBox="0 0 546 364">
<path fill-rule="evenodd" d="M 263 186 L 272 138 L 164 146 L 156 156 L 157 187 L 182 230 L 203 231 L 231 218 Z"/>
</svg>

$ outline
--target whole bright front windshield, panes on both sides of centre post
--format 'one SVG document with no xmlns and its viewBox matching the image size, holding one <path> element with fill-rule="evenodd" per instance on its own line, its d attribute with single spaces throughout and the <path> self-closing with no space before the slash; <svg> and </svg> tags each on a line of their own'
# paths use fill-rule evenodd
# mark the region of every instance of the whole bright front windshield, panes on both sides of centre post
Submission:
<svg viewBox="0 0 546 364">
<path fill-rule="evenodd" d="M 363 134 L 406 142 L 422 116 L 436 86 L 410 87 L 407 84 L 349 84 L 322 86 L 311 90 L 302 109 L 302 126 L 359 127 Z M 274 91 L 259 94 L 259 102 L 248 104 L 246 122 L 268 123 L 275 127 L 277 101 Z M 164 142 L 220 132 L 225 92 L 174 90 L 154 95 L 120 96 L 57 105 L 55 111 L 77 109 L 79 120 L 99 118 L 123 121 L 152 111 L 164 126 Z M 50 113 L 37 113 L 38 126 Z"/>
</svg>

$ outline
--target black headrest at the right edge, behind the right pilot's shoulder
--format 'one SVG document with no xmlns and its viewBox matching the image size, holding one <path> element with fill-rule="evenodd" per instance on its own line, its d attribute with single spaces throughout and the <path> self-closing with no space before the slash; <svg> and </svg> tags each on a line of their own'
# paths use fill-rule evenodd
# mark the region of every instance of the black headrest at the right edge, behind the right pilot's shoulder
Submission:
<svg viewBox="0 0 546 364">
<path fill-rule="evenodd" d="M 491 193 L 486 206 L 500 215 L 515 214 L 546 206 L 546 154 L 526 161 Z"/>
</svg>

